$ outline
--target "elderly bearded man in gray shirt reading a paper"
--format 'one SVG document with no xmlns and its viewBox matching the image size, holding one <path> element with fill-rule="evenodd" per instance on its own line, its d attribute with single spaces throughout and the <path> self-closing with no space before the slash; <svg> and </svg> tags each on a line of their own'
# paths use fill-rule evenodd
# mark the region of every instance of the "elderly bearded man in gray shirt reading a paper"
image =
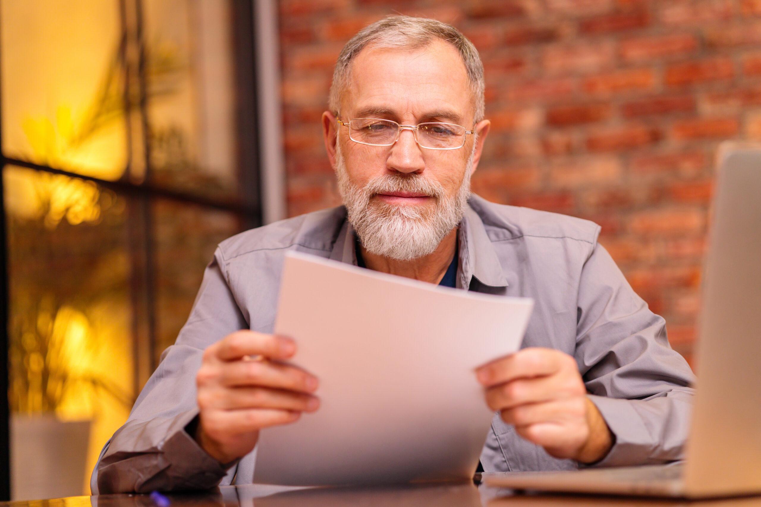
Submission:
<svg viewBox="0 0 761 507">
<path fill-rule="evenodd" d="M 322 117 L 344 205 L 219 245 L 177 343 L 103 449 L 94 493 L 250 483 L 260 431 L 319 410 L 319 379 L 277 361 L 308 339 L 272 334 L 289 249 L 535 299 L 524 349 L 476 372 L 495 410 L 485 471 L 683 456 L 693 374 L 600 228 L 470 194 L 483 90 L 476 49 L 438 21 L 387 17 L 346 44 Z"/>
</svg>

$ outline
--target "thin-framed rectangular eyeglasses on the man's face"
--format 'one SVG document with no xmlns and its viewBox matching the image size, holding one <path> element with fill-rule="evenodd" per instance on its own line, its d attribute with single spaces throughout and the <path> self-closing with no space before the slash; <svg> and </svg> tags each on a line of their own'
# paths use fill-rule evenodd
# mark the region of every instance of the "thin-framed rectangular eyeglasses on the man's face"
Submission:
<svg viewBox="0 0 761 507">
<path fill-rule="evenodd" d="M 418 125 L 400 125 L 390 119 L 355 118 L 348 122 L 338 120 L 339 125 L 349 128 L 349 139 L 370 146 L 391 146 L 399 140 L 403 129 L 409 129 L 415 141 L 428 150 L 457 150 L 465 145 L 465 138 L 473 134 L 462 125 L 454 123 L 427 122 Z"/>
</svg>

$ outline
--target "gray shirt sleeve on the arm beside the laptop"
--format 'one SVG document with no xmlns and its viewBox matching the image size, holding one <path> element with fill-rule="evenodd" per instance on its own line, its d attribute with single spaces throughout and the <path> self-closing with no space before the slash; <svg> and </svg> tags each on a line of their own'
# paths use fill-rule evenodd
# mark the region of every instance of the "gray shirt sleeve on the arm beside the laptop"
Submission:
<svg viewBox="0 0 761 507">
<path fill-rule="evenodd" d="M 683 459 L 692 369 L 670 347 L 664 318 L 648 309 L 599 244 L 581 272 L 575 357 L 615 438 L 593 466 Z"/>
</svg>

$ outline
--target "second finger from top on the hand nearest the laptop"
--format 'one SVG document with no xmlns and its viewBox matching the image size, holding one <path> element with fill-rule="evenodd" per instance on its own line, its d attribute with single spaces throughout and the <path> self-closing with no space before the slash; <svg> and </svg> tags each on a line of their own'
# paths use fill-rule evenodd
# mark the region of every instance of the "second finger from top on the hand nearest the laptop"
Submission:
<svg viewBox="0 0 761 507">
<path fill-rule="evenodd" d="M 572 398 L 579 394 L 581 393 L 575 389 L 568 388 L 565 379 L 560 375 L 552 375 L 537 379 L 518 379 L 488 388 L 486 404 L 492 410 L 505 410 L 523 404 Z"/>
</svg>

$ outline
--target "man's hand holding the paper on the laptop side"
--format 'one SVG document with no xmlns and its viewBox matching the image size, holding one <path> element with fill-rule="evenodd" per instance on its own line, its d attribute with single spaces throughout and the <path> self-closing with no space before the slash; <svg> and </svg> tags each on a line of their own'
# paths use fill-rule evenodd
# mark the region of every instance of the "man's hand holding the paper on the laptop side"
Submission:
<svg viewBox="0 0 761 507">
<path fill-rule="evenodd" d="M 593 463 L 613 446 L 572 356 L 528 348 L 482 366 L 476 375 L 486 387 L 489 407 L 549 455 Z"/>
</svg>

